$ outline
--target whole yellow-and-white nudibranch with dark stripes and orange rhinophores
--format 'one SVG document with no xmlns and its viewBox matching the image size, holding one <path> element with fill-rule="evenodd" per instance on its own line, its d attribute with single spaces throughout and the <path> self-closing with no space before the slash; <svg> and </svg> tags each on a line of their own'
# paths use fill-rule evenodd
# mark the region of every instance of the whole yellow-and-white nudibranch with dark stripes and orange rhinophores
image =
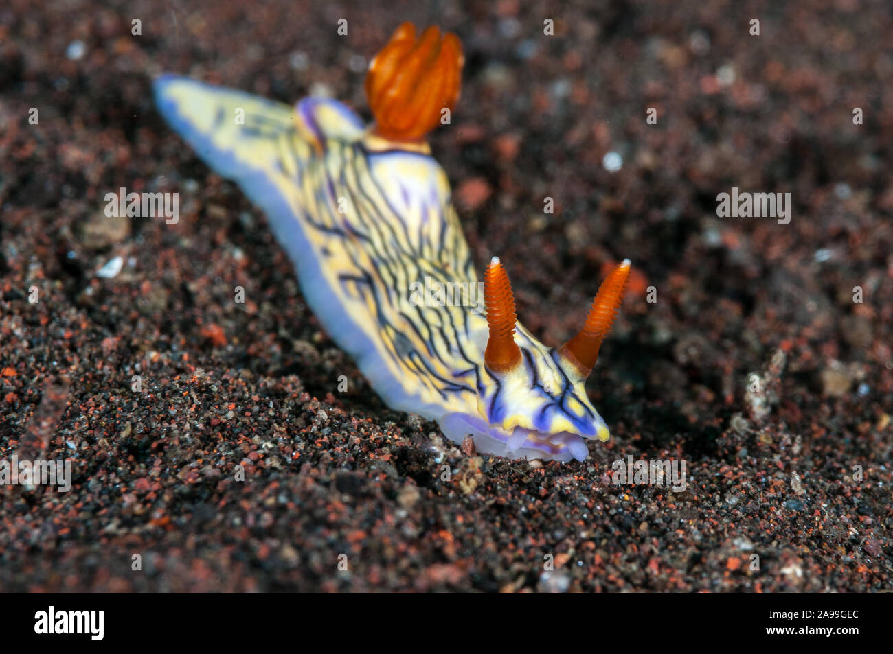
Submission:
<svg viewBox="0 0 893 654">
<path fill-rule="evenodd" d="M 457 443 L 513 459 L 586 459 L 608 439 L 584 388 L 622 302 L 623 261 L 578 335 L 547 347 L 517 322 L 496 257 L 473 302 L 418 302 L 413 284 L 477 287 L 447 175 L 426 134 L 459 97 L 463 51 L 404 23 L 372 60 L 367 127 L 336 100 L 295 107 L 165 75 L 159 111 L 267 216 L 305 300 L 389 406 L 437 420 Z M 471 286 L 464 286 L 471 287 Z M 464 305 L 461 305 L 464 304 Z M 461 306 L 460 306 L 461 305 Z"/>
</svg>

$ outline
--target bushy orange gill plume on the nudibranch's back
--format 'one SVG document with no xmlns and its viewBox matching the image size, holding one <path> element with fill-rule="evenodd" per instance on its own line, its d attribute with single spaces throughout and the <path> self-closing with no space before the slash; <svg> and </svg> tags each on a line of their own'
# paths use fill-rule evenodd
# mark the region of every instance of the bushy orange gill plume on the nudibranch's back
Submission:
<svg viewBox="0 0 893 654">
<path fill-rule="evenodd" d="M 405 22 L 369 64 L 366 98 L 375 132 L 394 141 L 420 141 L 459 99 L 464 56 L 459 38 L 434 26 L 416 39 Z"/>
</svg>

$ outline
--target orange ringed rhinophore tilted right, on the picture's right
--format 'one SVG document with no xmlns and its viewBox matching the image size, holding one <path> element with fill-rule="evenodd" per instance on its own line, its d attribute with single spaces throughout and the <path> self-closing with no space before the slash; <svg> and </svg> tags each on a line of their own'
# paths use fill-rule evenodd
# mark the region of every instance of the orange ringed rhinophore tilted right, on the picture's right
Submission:
<svg viewBox="0 0 893 654">
<path fill-rule="evenodd" d="M 596 299 L 580 333 L 563 345 L 561 352 L 568 357 L 584 376 L 596 365 L 598 349 L 608 332 L 611 331 L 617 310 L 623 302 L 623 292 L 630 277 L 630 260 L 625 259 L 613 269 L 602 286 L 598 287 Z"/>
</svg>

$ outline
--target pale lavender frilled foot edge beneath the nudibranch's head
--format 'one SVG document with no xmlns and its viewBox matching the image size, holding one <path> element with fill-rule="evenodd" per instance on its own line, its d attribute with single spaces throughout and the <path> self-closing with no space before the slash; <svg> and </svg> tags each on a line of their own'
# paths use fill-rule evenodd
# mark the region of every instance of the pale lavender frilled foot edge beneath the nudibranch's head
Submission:
<svg viewBox="0 0 893 654">
<path fill-rule="evenodd" d="M 477 451 L 508 459 L 566 462 L 582 461 L 589 456 L 586 441 L 580 435 L 571 432 L 541 434 L 522 427 L 505 431 L 467 413 L 448 413 L 440 418 L 440 429 L 454 443 L 462 443 L 471 435 Z"/>
</svg>

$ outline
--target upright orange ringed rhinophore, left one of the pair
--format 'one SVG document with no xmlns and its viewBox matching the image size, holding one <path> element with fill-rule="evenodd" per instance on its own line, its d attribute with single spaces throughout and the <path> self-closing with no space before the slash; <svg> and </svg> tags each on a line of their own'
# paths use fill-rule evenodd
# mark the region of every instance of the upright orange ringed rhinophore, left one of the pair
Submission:
<svg viewBox="0 0 893 654">
<path fill-rule="evenodd" d="M 484 363 L 494 372 L 505 372 L 521 362 L 521 348 L 514 342 L 514 295 L 499 257 L 484 272 L 484 305 L 490 335 Z"/>
</svg>

